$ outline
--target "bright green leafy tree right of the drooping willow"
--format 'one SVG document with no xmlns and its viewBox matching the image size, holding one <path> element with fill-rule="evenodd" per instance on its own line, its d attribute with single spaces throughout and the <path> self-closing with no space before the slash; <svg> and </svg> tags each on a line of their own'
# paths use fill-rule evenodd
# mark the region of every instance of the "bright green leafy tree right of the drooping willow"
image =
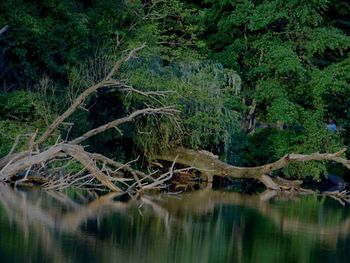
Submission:
<svg viewBox="0 0 350 263">
<path fill-rule="evenodd" d="M 259 122 L 292 127 L 248 138 L 246 163 L 340 147 L 340 134 L 327 132 L 325 125 L 329 118 L 348 125 L 350 37 L 336 14 L 344 21 L 349 8 L 326 0 L 204 2 L 203 38 L 210 56 L 241 75 L 242 93 L 256 100 Z M 284 172 L 317 178 L 324 171 L 324 164 L 309 163 Z"/>
</svg>

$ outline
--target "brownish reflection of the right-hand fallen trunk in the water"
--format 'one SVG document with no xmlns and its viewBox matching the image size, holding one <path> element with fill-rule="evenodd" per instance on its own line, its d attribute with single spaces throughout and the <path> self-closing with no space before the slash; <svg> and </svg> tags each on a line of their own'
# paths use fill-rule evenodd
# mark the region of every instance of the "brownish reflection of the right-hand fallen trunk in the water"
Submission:
<svg viewBox="0 0 350 263">
<path fill-rule="evenodd" d="M 308 198 L 315 199 L 315 197 L 312 196 Z M 285 233 L 309 233 L 317 235 L 320 239 L 328 238 L 329 236 L 333 236 L 335 239 L 338 239 L 350 234 L 350 216 L 338 219 L 339 222 L 336 222 L 331 226 L 327 226 L 322 223 L 303 222 L 302 218 L 290 217 L 283 213 L 281 209 L 278 209 L 278 207 L 271 205 L 269 201 L 273 199 L 285 201 L 292 199 L 294 204 L 291 203 L 290 205 L 293 206 L 300 205 L 302 198 L 298 195 L 283 193 L 278 196 L 277 192 L 275 191 L 265 191 L 259 195 L 244 195 L 237 192 L 220 192 L 204 189 L 184 195 L 181 198 L 181 202 L 167 199 L 166 206 L 171 209 L 173 213 L 191 211 L 197 214 L 213 213 L 215 207 L 221 205 L 241 206 L 250 208 L 259 212 L 260 215 L 263 215 L 268 219 L 272 219 L 276 226 L 281 228 L 281 230 Z M 315 205 L 315 202 L 313 202 L 313 205 Z M 319 205 L 317 208 L 318 210 L 321 210 L 322 206 Z M 323 213 L 318 213 L 317 216 L 323 217 L 324 211 Z M 317 218 L 314 219 L 316 221 Z"/>
</svg>

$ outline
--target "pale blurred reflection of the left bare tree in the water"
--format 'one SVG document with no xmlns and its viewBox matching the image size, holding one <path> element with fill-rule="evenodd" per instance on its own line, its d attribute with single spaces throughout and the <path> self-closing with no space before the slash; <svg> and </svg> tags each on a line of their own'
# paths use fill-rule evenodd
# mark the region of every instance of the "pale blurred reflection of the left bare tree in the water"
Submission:
<svg viewBox="0 0 350 263">
<path fill-rule="evenodd" d="M 98 247 L 99 254 L 105 254 L 106 257 L 117 256 L 118 252 L 119 255 L 122 254 L 113 248 L 112 244 L 99 241 L 79 229 L 80 224 L 83 224 L 90 217 L 103 216 L 107 210 L 112 213 L 122 209 L 125 206 L 124 203 L 113 202 L 113 198 L 117 194 L 107 194 L 86 205 L 79 205 L 62 194 L 50 193 L 43 196 L 43 193 L 37 194 L 38 196 L 34 200 L 29 200 L 27 193 L 16 192 L 7 185 L 0 184 L 0 204 L 6 209 L 9 221 L 20 227 L 27 241 L 37 240 L 38 245 L 35 248 L 44 250 L 50 262 L 75 261 L 72 257 L 67 256 L 68 253 L 62 248 L 60 240 L 62 234 L 73 235 L 74 239 L 78 241 L 76 246 L 83 244 L 87 249 Z M 59 201 L 60 205 L 56 204 L 56 207 L 43 209 L 39 204 L 41 196 L 45 199 L 51 196 Z M 74 210 L 62 213 L 61 209 L 65 210 L 68 207 L 74 207 Z M 29 237 L 30 235 L 31 237 Z M 28 246 L 33 247 L 30 256 L 35 256 L 36 251 L 33 244 L 28 243 Z"/>
</svg>

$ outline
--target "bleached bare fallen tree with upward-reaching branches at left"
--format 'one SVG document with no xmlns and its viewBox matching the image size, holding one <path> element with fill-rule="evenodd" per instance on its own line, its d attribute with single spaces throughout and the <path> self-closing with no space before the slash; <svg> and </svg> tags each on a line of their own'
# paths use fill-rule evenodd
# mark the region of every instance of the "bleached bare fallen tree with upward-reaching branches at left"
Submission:
<svg viewBox="0 0 350 263">
<path fill-rule="evenodd" d="M 16 152 L 19 137 L 16 138 L 10 152 L 5 157 L 0 159 L 0 181 L 16 181 L 15 183 L 17 185 L 26 184 L 33 180 L 39 181 L 39 175 L 39 178 L 41 178 L 40 182 L 44 182 L 49 188 L 61 189 L 79 183 L 78 185 L 80 186 L 104 187 L 111 191 L 122 191 L 122 189 L 117 186 L 117 183 L 126 184 L 125 182 L 129 180 L 121 177 L 120 172 L 124 171 L 133 176 L 133 180 L 137 182 L 135 188 L 138 190 L 143 189 L 145 184 L 148 185 L 147 188 L 157 188 L 162 185 L 164 183 L 164 179 L 168 178 L 169 173 L 171 174 L 171 171 L 169 173 L 165 173 L 163 176 L 160 176 L 158 179 L 154 179 L 151 175 L 145 175 L 142 172 L 132 169 L 128 164 L 118 163 L 103 155 L 87 152 L 81 143 L 88 138 L 108 129 L 117 128 L 119 125 L 132 122 L 139 116 L 144 116 L 146 114 L 157 114 L 171 117 L 177 112 L 171 107 L 147 107 L 136 110 L 126 117 L 110 121 L 73 140 L 67 141 L 59 138 L 54 145 L 45 146 L 45 143 L 47 143 L 48 139 L 53 136 L 60 125 L 69 116 L 71 116 L 91 94 L 100 88 L 113 87 L 114 89 L 119 89 L 120 91 L 126 90 L 127 92 L 137 92 L 143 96 L 162 96 L 163 94 L 161 92 L 138 91 L 126 85 L 123 81 L 113 78 L 120 66 L 129 61 L 139 50 L 143 49 L 144 47 L 145 44 L 131 50 L 126 56 L 119 59 L 103 80 L 82 92 L 73 101 L 71 106 L 62 115 L 57 117 L 38 139 L 36 139 L 38 132 L 31 134 L 29 136 L 30 138 L 28 141 L 27 150 Z M 74 175 L 61 174 L 59 177 L 51 176 L 51 174 L 55 174 L 55 171 L 57 171 L 57 169 L 60 167 L 51 167 L 49 164 L 57 160 L 65 160 L 66 162 L 76 160 L 83 166 L 83 169 Z M 17 177 L 19 174 L 22 176 L 18 179 Z M 33 174 L 36 174 L 36 176 L 33 177 Z M 143 183 L 142 181 L 145 179 L 147 179 L 147 182 Z M 97 180 L 98 183 L 95 182 L 92 184 L 92 181 L 94 180 Z M 134 190 L 130 189 L 130 185 L 126 185 L 128 186 L 127 189 L 129 191 Z"/>
</svg>

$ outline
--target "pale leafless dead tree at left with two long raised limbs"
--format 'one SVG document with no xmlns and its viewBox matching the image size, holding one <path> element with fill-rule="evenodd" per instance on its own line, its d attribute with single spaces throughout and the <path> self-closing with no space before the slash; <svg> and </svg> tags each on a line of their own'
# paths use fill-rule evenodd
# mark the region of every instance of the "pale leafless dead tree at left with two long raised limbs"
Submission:
<svg viewBox="0 0 350 263">
<path fill-rule="evenodd" d="M 122 169 L 128 173 L 130 173 L 135 181 L 138 182 L 139 188 L 142 188 L 141 179 L 140 178 L 146 178 L 148 177 L 142 172 L 136 171 L 132 169 L 129 165 L 119 164 L 107 157 L 104 157 L 102 155 L 97 154 L 91 154 L 86 152 L 81 146 L 78 144 L 83 142 L 84 140 L 90 138 L 91 136 L 94 136 L 96 134 L 99 134 L 105 130 L 108 130 L 110 128 L 117 128 L 117 126 L 133 121 L 137 116 L 145 115 L 145 114 L 173 114 L 177 112 L 176 110 L 170 108 L 170 107 L 162 107 L 162 108 L 145 108 L 141 110 L 136 110 L 135 112 L 131 113 L 129 116 L 126 116 L 124 118 L 120 118 L 114 121 L 111 121 L 105 125 L 102 125 L 96 129 L 92 129 L 88 131 L 87 133 L 83 134 L 82 136 L 72 140 L 71 142 L 63 141 L 59 143 L 59 140 L 56 141 L 55 145 L 52 145 L 46 149 L 40 149 L 40 146 L 43 142 L 45 142 L 52 134 L 53 132 L 62 124 L 64 121 L 82 104 L 82 102 L 92 93 L 94 93 L 96 90 L 102 87 L 124 87 L 124 89 L 128 89 L 128 92 L 137 92 L 139 94 L 142 94 L 144 96 L 155 96 L 163 94 L 160 92 L 142 92 L 138 91 L 131 86 L 126 85 L 125 83 L 121 81 L 117 81 L 113 79 L 113 76 L 116 74 L 116 72 L 119 70 L 120 66 L 129 61 L 132 57 L 135 56 L 135 54 L 143 49 L 145 47 L 145 44 L 142 44 L 139 47 L 134 48 L 131 50 L 128 54 L 126 54 L 124 57 L 120 58 L 112 67 L 110 72 L 106 75 L 106 77 L 100 81 L 97 84 L 94 84 L 93 86 L 87 88 L 84 92 L 82 92 L 72 103 L 72 105 L 58 118 L 56 118 L 52 124 L 47 128 L 47 130 L 36 140 L 37 131 L 31 136 L 28 147 L 29 149 L 24 152 L 20 153 L 14 153 L 17 144 L 19 142 L 20 137 L 16 138 L 15 143 L 13 147 L 11 148 L 10 152 L 7 156 L 0 159 L 0 181 L 11 181 L 12 178 L 20 172 L 25 172 L 25 176 L 20 179 L 18 182 L 23 183 L 27 181 L 29 172 L 31 170 L 36 170 L 37 174 L 40 177 L 40 174 L 42 174 L 41 170 L 42 168 L 45 168 L 45 171 L 47 171 L 47 167 L 50 163 L 55 162 L 55 160 L 63 160 L 62 157 L 70 157 L 75 160 L 77 160 L 79 163 L 83 165 L 83 169 L 81 173 L 75 175 L 64 175 L 63 177 L 60 177 L 59 179 L 51 179 L 58 180 L 57 183 L 49 183 L 48 185 L 51 185 L 51 187 L 65 187 L 67 185 L 72 185 L 74 183 L 77 183 L 78 181 L 82 181 L 82 185 L 88 185 L 91 184 L 94 179 L 97 179 L 104 187 L 107 187 L 108 189 L 112 191 L 121 191 L 119 187 L 117 187 L 114 182 L 122 182 L 124 183 L 125 180 L 122 180 L 121 178 L 113 178 L 112 175 L 115 175 L 119 169 Z M 123 90 L 125 91 L 125 90 Z M 57 159 L 58 158 L 58 159 Z M 100 169 L 98 165 L 100 165 L 99 162 L 102 161 L 102 168 Z M 112 166 L 114 168 L 114 171 L 109 169 L 106 165 Z M 37 169 L 36 167 L 39 168 Z M 40 166 L 42 168 L 40 168 Z M 83 175 L 82 173 L 84 171 L 88 171 L 88 175 Z M 59 171 L 60 173 L 61 171 Z M 81 177 L 77 177 L 79 175 L 82 175 Z M 129 179 L 126 179 L 129 180 Z M 95 186 L 98 186 L 97 184 L 94 184 Z M 127 185 L 129 186 L 129 185 Z"/>
</svg>

